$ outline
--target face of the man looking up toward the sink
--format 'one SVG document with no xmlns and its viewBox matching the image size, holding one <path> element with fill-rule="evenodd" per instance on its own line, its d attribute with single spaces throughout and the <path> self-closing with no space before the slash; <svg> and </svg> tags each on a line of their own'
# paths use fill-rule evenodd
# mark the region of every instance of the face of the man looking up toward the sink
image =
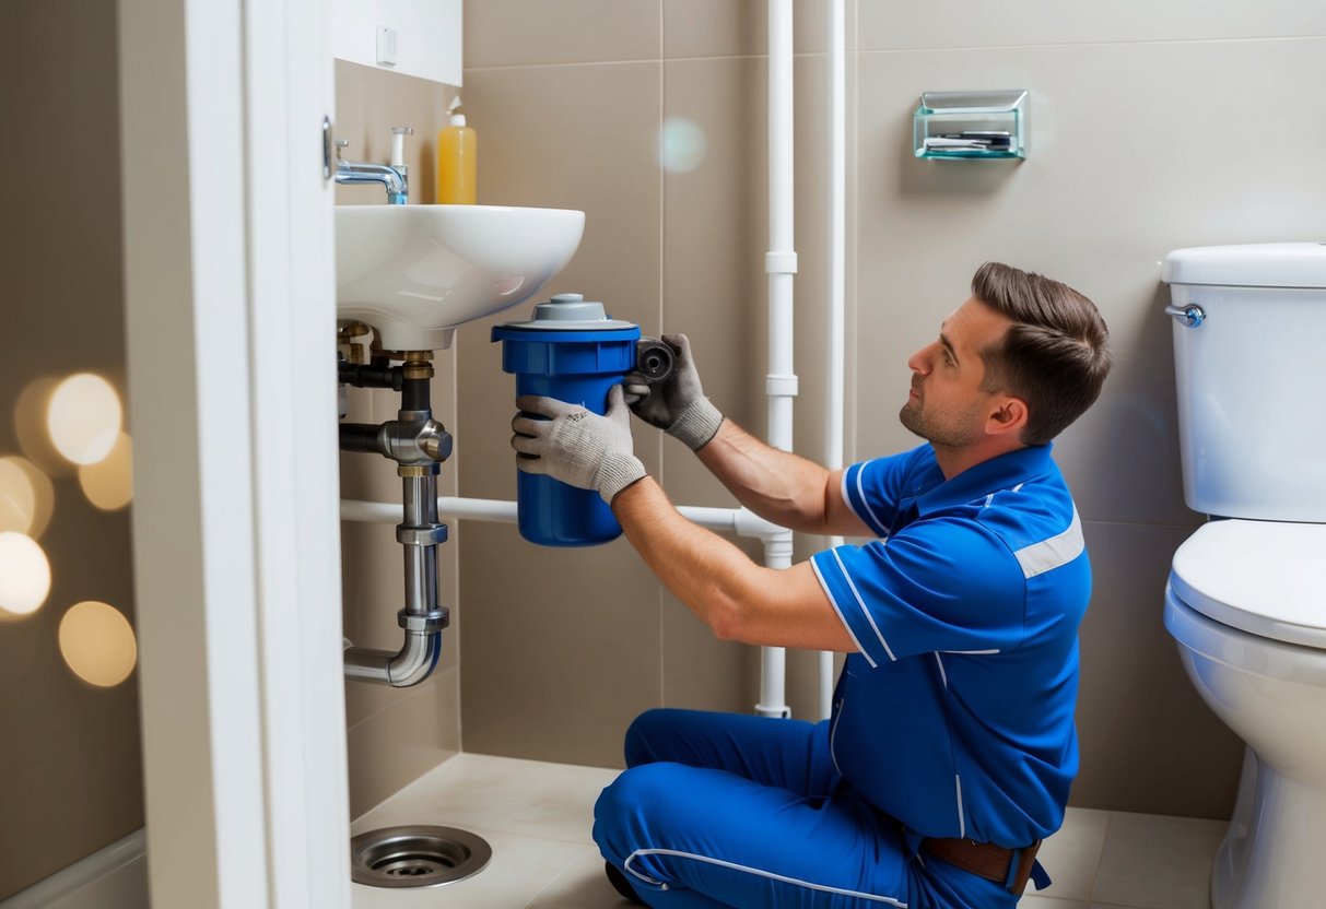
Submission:
<svg viewBox="0 0 1326 909">
<path fill-rule="evenodd" d="M 985 363 L 980 351 L 998 343 L 1012 323 L 975 297 L 949 314 L 939 338 L 907 360 L 912 380 L 898 413 L 903 425 L 935 445 L 961 448 L 977 441 L 993 398 L 981 390 Z"/>
</svg>

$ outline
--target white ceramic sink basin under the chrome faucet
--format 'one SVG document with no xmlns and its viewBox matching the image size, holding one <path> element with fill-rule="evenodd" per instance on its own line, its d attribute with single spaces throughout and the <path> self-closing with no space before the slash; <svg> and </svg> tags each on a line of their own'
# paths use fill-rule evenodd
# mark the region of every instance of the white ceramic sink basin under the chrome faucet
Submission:
<svg viewBox="0 0 1326 909">
<path fill-rule="evenodd" d="M 529 299 L 583 232 L 562 208 L 337 205 L 337 318 L 383 350 L 443 350 L 457 325 Z"/>
</svg>

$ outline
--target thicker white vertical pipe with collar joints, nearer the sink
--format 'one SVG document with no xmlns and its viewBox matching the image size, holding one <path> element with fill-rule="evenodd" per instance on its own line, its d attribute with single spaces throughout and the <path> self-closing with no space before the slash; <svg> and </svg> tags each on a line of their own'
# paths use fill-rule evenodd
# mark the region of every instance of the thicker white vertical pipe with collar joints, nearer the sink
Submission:
<svg viewBox="0 0 1326 909">
<path fill-rule="evenodd" d="M 769 437 L 774 448 L 792 451 L 792 399 L 797 376 L 792 371 L 792 282 L 797 272 L 793 239 L 793 129 L 792 129 L 792 0 L 769 0 Z M 792 564 L 792 534 L 765 542 L 765 564 Z M 785 686 L 786 651 L 766 647 L 760 655 L 761 716 L 790 713 Z"/>
</svg>

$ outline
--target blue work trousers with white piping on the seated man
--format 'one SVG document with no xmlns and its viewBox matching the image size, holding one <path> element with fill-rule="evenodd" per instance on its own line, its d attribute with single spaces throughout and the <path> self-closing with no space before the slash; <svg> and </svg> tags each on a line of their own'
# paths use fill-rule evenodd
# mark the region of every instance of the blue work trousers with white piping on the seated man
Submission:
<svg viewBox="0 0 1326 909">
<path fill-rule="evenodd" d="M 834 769 L 827 721 L 650 710 L 626 734 L 626 765 L 594 806 L 594 840 L 655 909 L 1017 902 L 918 856 L 919 837 Z"/>
</svg>

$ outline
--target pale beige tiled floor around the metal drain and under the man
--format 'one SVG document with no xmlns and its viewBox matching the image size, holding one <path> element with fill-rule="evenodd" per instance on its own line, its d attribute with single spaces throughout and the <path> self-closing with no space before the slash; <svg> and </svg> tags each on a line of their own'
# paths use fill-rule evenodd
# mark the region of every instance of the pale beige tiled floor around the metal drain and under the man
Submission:
<svg viewBox="0 0 1326 909">
<path fill-rule="evenodd" d="M 622 909 L 590 841 L 590 810 L 617 775 L 599 767 L 460 754 L 354 822 L 459 827 L 492 845 L 488 867 L 442 888 L 354 885 L 354 909 Z M 1041 859 L 1054 879 L 1022 909 L 1207 909 L 1225 824 L 1069 808 Z"/>
</svg>

